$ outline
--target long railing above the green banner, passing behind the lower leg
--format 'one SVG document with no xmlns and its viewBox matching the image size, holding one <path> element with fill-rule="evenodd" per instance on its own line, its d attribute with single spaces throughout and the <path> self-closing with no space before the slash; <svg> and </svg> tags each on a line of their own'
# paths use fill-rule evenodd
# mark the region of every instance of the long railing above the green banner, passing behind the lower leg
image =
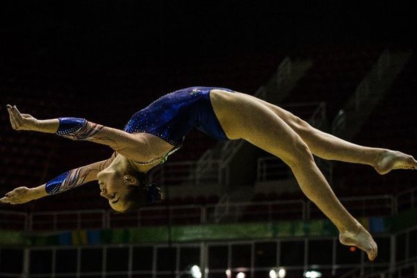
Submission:
<svg viewBox="0 0 417 278">
<path fill-rule="evenodd" d="M 417 188 L 400 195 L 345 197 L 341 202 L 357 217 L 394 215 L 403 202 L 411 199 Z M 413 197 L 414 198 L 414 197 Z M 415 199 L 414 199 L 415 202 Z M 407 204 L 410 204 L 407 202 Z M 407 206 L 409 208 L 410 206 Z M 414 206 L 411 207 L 416 207 Z M 401 207 L 400 207 L 401 208 Z M 226 215 L 219 217 L 221 215 Z M 227 213 L 224 213 L 227 212 Z M 59 231 L 73 229 L 108 229 L 175 224 L 217 222 L 311 220 L 325 218 L 309 200 L 277 200 L 272 202 L 221 202 L 219 204 L 149 206 L 134 213 L 113 213 L 105 210 L 45 211 L 22 213 L 0 211 L 0 229 L 20 231 Z"/>
</svg>

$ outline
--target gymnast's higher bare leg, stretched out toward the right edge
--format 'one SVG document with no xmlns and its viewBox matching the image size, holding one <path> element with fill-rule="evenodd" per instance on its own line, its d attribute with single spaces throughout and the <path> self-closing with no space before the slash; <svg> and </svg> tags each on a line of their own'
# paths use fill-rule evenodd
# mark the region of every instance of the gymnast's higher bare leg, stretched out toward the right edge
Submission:
<svg viewBox="0 0 417 278">
<path fill-rule="evenodd" d="M 314 129 L 307 122 L 278 106 L 257 99 L 256 97 L 248 97 L 267 106 L 278 117 L 284 120 L 306 142 L 311 153 L 316 156 L 328 160 L 370 165 L 379 174 L 386 174 L 394 169 L 417 169 L 417 161 L 413 156 L 389 149 L 363 147 L 347 142 L 329 133 Z"/>
</svg>

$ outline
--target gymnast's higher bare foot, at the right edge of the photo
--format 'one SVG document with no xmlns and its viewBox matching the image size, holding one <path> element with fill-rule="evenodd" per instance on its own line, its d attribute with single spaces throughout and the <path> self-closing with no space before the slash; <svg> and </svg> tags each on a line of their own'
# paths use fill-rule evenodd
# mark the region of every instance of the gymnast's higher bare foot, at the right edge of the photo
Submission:
<svg viewBox="0 0 417 278">
<path fill-rule="evenodd" d="M 417 161 L 408 154 L 384 149 L 375 160 L 374 168 L 379 174 L 386 174 L 394 169 L 417 170 Z"/>
</svg>

